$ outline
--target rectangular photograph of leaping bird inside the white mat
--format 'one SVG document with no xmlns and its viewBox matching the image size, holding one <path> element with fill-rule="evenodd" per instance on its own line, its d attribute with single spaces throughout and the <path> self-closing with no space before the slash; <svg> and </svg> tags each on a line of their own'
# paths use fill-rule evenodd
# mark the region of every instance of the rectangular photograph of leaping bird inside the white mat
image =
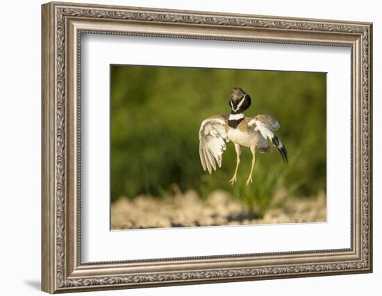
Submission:
<svg viewBox="0 0 382 296">
<path fill-rule="evenodd" d="M 110 228 L 326 222 L 326 73 L 110 64 Z"/>
</svg>

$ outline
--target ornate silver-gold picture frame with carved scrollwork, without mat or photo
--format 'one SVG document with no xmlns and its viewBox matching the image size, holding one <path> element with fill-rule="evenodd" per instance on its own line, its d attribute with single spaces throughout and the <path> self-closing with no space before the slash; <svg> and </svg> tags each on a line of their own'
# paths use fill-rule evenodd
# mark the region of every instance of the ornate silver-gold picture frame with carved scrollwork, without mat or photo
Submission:
<svg viewBox="0 0 382 296">
<path fill-rule="evenodd" d="M 349 46 L 351 247 L 81 263 L 81 33 Z M 42 290 L 372 272 L 372 24 L 77 3 L 42 6 Z"/>
</svg>

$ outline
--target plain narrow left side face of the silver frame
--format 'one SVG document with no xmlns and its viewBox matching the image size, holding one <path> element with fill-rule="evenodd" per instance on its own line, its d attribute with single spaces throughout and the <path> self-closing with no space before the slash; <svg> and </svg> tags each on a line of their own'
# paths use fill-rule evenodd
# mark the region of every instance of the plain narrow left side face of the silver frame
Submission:
<svg viewBox="0 0 382 296">
<path fill-rule="evenodd" d="M 41 290 L 56 290 L 55 238 L 55 153 L 54 153 L 54 13 L 52 3 L 41 6 L 41 94 L 42 94 L 42 176 L 41 176 Z"/>
</svg>

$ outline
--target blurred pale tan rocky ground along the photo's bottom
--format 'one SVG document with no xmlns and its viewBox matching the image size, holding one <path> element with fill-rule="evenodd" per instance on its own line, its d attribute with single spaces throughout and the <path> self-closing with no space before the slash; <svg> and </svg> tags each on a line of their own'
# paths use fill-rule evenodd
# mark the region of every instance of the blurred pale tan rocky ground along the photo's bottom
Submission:
<svg viewBox="0 0 382 296">
<path fill-rule="evenodd" d="M 157 227 L 194 227 L 326 221 L 326 196 L 288 198 L 283 193 L 274 200 L 282 207 L 272 207 L 262 218 L 254 216 L 225 191 L 214 191 L 201 200 L 194 191 L 174 198 L 158 199 L 138 196 L 119 198 L 111 206 L 112 229 Z M 281 202 L 280 202 L 281 201 Z"/>
</svg>

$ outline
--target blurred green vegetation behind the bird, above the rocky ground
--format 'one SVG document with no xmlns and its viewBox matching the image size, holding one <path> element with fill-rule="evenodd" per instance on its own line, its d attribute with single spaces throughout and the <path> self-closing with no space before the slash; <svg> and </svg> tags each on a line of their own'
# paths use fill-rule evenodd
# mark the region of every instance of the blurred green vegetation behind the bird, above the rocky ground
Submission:
<svg viewBox="0 0 382 296">
<path fill-rule="evenodd" d="M 235 150 L 228 143 L 222 168 L 212 175 L 199 160 L 201 121 L 229 114 L 229 95 L 241 87 L 252 98 L 246 116 L 269 114 L 281 124 L 276 132 L 288 150 L 256 154 L 254 183 L 245 186 L 251 153 L 244 148 L 238 183 Z M 312 196 L 326 190 L 326 73 L 111 67 L 111 197 L 171 195 L 194 189 L 205 198 L 215 189 L 229 191 L 260 214 L 274 193 Z"/>
</svg>

